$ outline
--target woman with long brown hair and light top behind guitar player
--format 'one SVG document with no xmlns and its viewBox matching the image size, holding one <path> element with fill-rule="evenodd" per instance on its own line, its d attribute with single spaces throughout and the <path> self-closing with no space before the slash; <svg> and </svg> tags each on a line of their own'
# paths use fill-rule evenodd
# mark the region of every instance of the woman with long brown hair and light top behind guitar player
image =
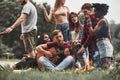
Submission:
<svg viewBox="0 0 120 80">
<path fill-rule="evenodd" d="M 76 42 L 82 37 L 82 25 L 79 21 L 77 13 L 75 12 L 71 12 L 68 19 L 71 32 L 71 40 L 72 42 Z"/>
</svg>

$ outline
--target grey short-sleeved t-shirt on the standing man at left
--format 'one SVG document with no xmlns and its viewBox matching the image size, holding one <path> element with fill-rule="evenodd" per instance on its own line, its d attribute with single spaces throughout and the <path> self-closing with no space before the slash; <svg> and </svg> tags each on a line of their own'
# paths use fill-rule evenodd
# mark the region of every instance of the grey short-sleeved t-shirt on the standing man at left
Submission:
<svg viewBox="0 0 120 80">
<path fill-rule="evenodd" d="M 37 29 L 37 11 L 31 2 L 27 2 L 22 9 L 21 14 L 27 14 L 26 20 L 21 23 L 22 33 L 30 32 Z"/>
</svg>

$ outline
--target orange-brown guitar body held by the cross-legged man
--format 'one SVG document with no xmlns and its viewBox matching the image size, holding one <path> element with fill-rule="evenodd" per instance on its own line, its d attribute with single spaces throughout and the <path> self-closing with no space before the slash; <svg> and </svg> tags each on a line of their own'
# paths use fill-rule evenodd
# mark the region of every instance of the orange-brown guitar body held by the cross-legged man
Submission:
<svg viewBox="0 0 120 80">
<path fill-rule="evenodd" d="M 56 54 L 56 49 L 54 47 L 47 49 L 48 51 L 50 51 L 53 55 Z M 43 54 L 43 53 L 37 53 L 36 55 L 36 60 L 37 60 L 37 64 L 38 64 L 38 68 L 41 69 L 42 68 L 42 64 L 40 64 L 39 62 L 39 58 L 41 56 L 45 56 L 47 59 L 49 59 L 51 62 L 55 63 L 57 61 L 57 56 L 54 57 L 48 57 L 47 55 Z"/>
</svg>

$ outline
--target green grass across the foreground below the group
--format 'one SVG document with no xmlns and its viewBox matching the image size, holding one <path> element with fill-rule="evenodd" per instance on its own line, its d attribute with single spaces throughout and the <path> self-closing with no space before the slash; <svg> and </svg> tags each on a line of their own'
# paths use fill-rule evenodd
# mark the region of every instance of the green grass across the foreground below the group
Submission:
<svg viewBox="0 0 120 80">
<path fill-rule="evenodd" d="M 119 55 L 120 57 L 120 55 Z M 67 70 L 61 72 L 40 71 L 38 69 L 13 71 L 6 67 L 0 70 L 0 80 L 119 80 L 120 79 L 120 58 L 112 70 L 95 69 L 87 72 L 75 72 Z M 16 61 L 16 60 L 10 60 Z M 18 60 L 19 61 L 19 60 Z"/>
</svg>

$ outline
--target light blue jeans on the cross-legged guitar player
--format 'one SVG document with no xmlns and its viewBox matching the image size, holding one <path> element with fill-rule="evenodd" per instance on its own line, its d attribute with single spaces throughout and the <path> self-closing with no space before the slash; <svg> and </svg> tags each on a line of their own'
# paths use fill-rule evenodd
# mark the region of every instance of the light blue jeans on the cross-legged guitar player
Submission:
<svg viewBox="0 0 120 80">
<path fill-rule="evenodd" d="M 55 65 L 46 57 L 41 56 L 39 62 L 48 70 L 64 70 L 69 67 L 72 67 L 74 63 L 74 58 L 72 56 L 67 56 L 59 65 Z"/>
</svg>

